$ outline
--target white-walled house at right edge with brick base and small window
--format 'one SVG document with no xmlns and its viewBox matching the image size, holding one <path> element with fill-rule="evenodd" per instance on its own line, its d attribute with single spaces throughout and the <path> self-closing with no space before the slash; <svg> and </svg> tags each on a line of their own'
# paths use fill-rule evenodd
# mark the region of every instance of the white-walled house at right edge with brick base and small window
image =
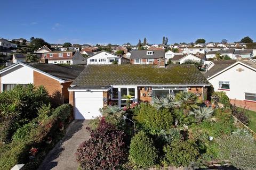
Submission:
<svg viewBox="0 0 256 170">
<path fill-rule="evenodd" d="M 215 64 L 205 74 L 214 91 L 225 91 L 231 104 L 256 111 L 256 62 L 238 58 L 233 64 Z"/>
</svg>

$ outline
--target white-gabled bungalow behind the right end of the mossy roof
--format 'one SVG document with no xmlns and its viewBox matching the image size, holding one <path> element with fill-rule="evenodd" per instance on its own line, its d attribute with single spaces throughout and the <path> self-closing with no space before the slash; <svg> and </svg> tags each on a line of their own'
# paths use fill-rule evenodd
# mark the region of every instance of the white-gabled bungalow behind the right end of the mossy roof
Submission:
<svg viewBox="0 0 256 170">
<path fill-rule="evenodd" d="M 204 64 L 205 61 L 205 55 L 193 55 L 193 54 L 178 54 L 174 55 L 171 59 L 171 61 L 174 64 L 183 64 L 188 61 L 198 62 Z"/>
</svg>

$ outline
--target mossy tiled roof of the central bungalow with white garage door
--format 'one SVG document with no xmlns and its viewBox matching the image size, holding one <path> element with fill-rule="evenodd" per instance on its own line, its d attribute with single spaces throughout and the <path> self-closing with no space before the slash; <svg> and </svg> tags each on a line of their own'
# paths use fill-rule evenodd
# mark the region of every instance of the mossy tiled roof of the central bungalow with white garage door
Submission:
<svg viewBox="0 0 256 170">
<path fill-rule="evenodd" d="M 87 65 L 71 84 L 77 87 L 127 84 L 210 84 L 197 67 L 192 65 Z M 73 87 L 75 88 L 75 87 Z"/>
</svg>

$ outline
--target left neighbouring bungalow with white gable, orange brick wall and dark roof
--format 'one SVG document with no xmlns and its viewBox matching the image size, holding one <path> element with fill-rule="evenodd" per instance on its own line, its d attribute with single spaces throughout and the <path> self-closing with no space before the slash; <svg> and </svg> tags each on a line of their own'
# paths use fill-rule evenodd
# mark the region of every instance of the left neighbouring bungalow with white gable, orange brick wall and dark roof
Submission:
<svg viewBox="0 0 256 170">
<path fill-rule="evenodd" d="M 68 87 L 81 73 L 81 70 L 70 69 L 56 64 L 16 63 L 0 70 L 0 92 L 11 90 L 17 84 L 26 86 L 33 83 L 43 85 L 49 95 L 61 94 L 63 102 L 68 102 Z"/>
</svg>

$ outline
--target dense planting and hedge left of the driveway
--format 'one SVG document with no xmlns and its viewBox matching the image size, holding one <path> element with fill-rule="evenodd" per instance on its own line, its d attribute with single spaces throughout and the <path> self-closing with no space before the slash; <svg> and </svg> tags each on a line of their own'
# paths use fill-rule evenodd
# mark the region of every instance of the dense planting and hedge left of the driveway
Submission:
<svg viewBox="0 0 256 170">
<path fill-rule="evenodd" d="M 72 107 L 53 103 L 43 86 L 18 85 L 0 94 L 0 169 L 37 169 L 65 135 Z"/>
</svg>

